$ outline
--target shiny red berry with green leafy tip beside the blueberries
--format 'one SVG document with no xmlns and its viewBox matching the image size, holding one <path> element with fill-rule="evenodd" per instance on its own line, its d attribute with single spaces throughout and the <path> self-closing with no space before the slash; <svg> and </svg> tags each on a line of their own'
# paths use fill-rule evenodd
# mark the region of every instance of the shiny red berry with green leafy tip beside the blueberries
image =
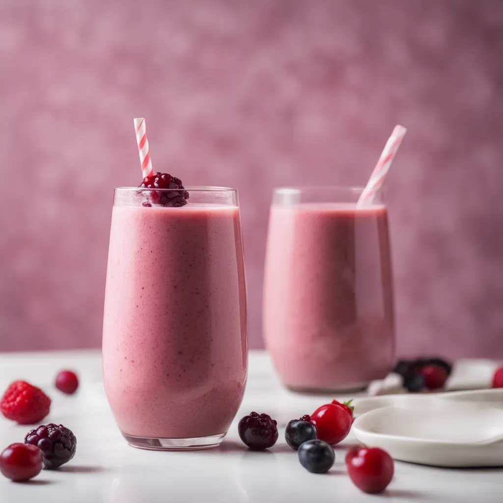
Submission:
<svg viewBox="0 0 503 503">
<path fill-rule="evenodd" d="M 321 405 L 311 414 L 311 423 L 318 431 L 318 439 L 334 445 L 344 440 L 353 424 L 353 411 L 342 403 Z"/>
</svg>

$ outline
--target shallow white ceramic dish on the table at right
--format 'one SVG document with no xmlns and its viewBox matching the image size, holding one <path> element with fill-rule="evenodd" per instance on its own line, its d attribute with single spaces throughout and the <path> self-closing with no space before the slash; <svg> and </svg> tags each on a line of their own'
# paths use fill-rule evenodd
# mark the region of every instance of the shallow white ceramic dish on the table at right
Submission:
<svg viewBox="0 0 503 503">
<path fill-rule="evenodd" d="M 394 459 L 434 466 L 503 466 L 503 389 L 361 399 L 353 431 Z"/>
</svg>

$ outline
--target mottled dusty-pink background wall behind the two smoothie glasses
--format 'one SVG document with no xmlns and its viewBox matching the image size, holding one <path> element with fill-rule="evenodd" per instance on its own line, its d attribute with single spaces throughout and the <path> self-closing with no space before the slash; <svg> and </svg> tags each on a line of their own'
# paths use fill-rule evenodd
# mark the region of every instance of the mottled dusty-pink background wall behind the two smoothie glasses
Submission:
<svg viewBox="0 0 503 503">
<path fill-rule="evenodd" d="M 274 186 L 387 185 L 398 350 L 503 357 L 503 2 L 2 0 L 0 349 L 98 346 L 112 189 L 236 186 L 251 346 Z"/>
</svg>

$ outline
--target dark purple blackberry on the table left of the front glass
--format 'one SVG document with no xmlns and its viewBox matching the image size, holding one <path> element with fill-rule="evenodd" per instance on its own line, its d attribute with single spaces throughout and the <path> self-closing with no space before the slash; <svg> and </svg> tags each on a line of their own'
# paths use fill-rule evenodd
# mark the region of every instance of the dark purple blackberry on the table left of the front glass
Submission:
<svg viewBox="0 0 503 503">
<path fill-rule="evenodd" d="M 26 434 L 25 444 L 37 446 L 42 451 L 42 461 L 49 469 L 57 468 L 75 455 L 77 439 L 63 425 L 42 425 Z"/>
</svg>

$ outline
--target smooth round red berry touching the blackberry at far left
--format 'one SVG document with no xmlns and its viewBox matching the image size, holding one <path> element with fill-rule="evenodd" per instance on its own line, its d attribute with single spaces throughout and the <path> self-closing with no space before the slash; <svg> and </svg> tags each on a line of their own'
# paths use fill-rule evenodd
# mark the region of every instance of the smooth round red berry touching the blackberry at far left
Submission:
<svg viewBox="0 0 503 503">
<path fill-rule="evenodd" d="M 11 444 L 0 454 L 0 471 L 14 482 L 25 482 L 42 469 L 42 451 L 33 445 Z"/>
</svg>

